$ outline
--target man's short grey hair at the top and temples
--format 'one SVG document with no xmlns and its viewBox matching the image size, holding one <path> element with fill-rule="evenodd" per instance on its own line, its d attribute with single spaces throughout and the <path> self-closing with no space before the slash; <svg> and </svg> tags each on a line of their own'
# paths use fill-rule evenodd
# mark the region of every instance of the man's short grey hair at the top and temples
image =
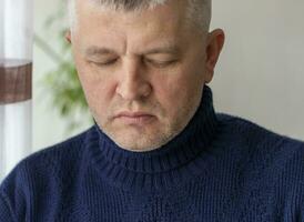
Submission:
<svg viewBox="0 0 304 222">
<path fill-rule="evenodd" d="M 75 1 L 68 0 L 69 7 L 69 20 L 70 27 L 75 26 L 77 20 L 77 9 Z M 142 11 L 146 9 L 153 9 L 156 6 L 164 4 L 170 0 L 80 0 L 80 1 L 91 1 L 94 4 L 101 6 L 103 8 L 110 8 L 113 10 L 124 10 L 124 11 Z M 176 0 L 175 0 L 176 1 Z M 211 22 L 211 11 L 212 11 L 212 0 L 188 0 L 188 16 L 186 18 L 194 22 L 199 28 L 199 31 L 207 32 Z"/>
</svg>

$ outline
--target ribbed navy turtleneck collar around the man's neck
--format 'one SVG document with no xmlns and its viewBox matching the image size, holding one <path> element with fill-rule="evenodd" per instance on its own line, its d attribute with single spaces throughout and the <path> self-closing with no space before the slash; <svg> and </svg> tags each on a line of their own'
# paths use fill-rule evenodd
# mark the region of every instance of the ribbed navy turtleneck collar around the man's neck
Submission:
<svg viewBox="0 0 304 222">
<path fill-rule="evenodd" d="M 172 176 L 189 176 L 183 175 L 189 174 L 185 169 L 191 170 L 188 165 L 210 145 L 216 127 L 212 91 L 205 85 L 194 117 L 163 147 L 145 152 L 128 151 L 118 147 L 97 124 L 87 147 L 94 167 L 109 183 L 126 189 L 161 189 L 174 183 Z"/>
</svg>

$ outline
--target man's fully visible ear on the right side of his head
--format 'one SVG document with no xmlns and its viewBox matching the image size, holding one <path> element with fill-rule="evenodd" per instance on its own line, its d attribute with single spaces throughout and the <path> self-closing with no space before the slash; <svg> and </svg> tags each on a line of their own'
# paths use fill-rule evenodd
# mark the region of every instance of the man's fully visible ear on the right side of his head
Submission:
<svg viewBox="0 0 304 222">
<path fill-rule="evenodd" d="M 224 31 L 221 29 L 216 29 L 207 34 L 206 40 L 206 78 L 205 82 L 211 82 L 213 74 L 214 74 L 214 68 L 219 60 L 220 53 L 223 49 L 225 41 L 225 34 Z"/>
</svg>

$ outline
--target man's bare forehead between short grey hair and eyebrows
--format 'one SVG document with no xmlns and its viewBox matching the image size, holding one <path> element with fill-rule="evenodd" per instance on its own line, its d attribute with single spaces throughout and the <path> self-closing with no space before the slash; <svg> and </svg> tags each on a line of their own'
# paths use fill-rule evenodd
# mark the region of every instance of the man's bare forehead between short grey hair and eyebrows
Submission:
<svg viewBox="0 0 304 222">
<path fill-rule="evenodd" d="M 123 42 L 124 46 L 143 48 L 163 41 L 168 46 L 182 40 L 189 32 L 185 22 L 186 1 L 168 1 L 142 11 L 113 10 L 79 1 L 77 11 L 75 36 L 91 44 L 120 47 L 116 44 Z"/>
</svg>

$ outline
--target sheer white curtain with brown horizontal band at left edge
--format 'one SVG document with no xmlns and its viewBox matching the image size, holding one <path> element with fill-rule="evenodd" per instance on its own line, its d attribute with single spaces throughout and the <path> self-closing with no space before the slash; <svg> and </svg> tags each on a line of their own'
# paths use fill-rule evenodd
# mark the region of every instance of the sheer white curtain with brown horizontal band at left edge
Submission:
<svg viewBox="0 0 304 222">
<path fill-rule="evenodd" d="M 24 85 L 24 75 L 31 77 L 32 17 L 32 0 L 0 0 L 0 181 L 31 152 L 31 95 L 28 90 L 27 97 L 20 99 L 18 90 L 20 85 L 30 88 L 29 83 Z M 28 68 L 21 69 L 26 64 Z M 21 79 L 22 84 L 9 79 Z M 13 93 L 19 93 L 18 97 L 8 87 L 12 82 L 17 82 Z M 6 99 L 9 97 L 17 99 Z"/>
</svg>

